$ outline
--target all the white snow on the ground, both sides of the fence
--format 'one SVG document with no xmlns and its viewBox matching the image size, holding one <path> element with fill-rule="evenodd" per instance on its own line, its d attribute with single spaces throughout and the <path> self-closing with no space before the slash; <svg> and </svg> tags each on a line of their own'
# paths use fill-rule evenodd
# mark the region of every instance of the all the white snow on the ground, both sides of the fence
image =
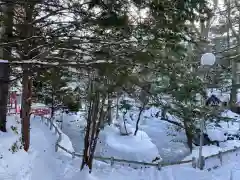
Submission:
<svg viewBox="0 0 240 180">
<path fill-rule="evenodd" d="M 169 124 L 151 116 L 151 113 L 154 113 L 153 109 L 144 113 L 144 121 L 141 122 L 137 136 L 133 134 L 121 136 L 119 128 L 114 125 L 105 127 L 100 133 L 97 147 L 102 149 L 102 151 L 98 149 L 98 153 L 102 153 L 105 157 L 114 156 L 120 159 L 151 162 L 156 156 L 161 155 L 159 147 L 163 149 L 170 147 L 170 139 L 184 139 L 183 134 L 181 134 L 182 132 L 177 132 L 177 136 L 169 136 L 167 140 L 164 139 L 168 137 L 166 136 L 166 132 L 170 128 Z M 78 125 L 78 130 L 80 129 L 79 127 L 84 127 L 85 121 L 81 116 L 84 115 L 82 113 L 75 115 L 65 114 L 64 118 L 67 117 L 64 119 L 65 130 L 72 130 L 73 125 Z M 238 156 L 240 150 L 237 153 L 224 154 L 222 165 L 218 158 L 208 159 L 203 171 L 192 168 L 190 163 L 162 167 L 161 170 L 158 170 L 156 167 L 144 165 L 134 166 L 132 164 L 119 164 L 115 162 L 111 166 L 105 162 L 94 161 L 93 172 L 89 174 L 87 168 L 83 171 L 79 170 L 82 161 L 80 158 L 72 159 L 72 157 L 61 150 L 55 152 L 55 143 L 58 136 L 54 134 L 53 130 L 50 131 L 45 123 L 41 123 L 38 117 L 31 119 L 31 143 L 29 151 L 25 152 L 20 149 L 12 154 L 8 149 L 12 147 L 14 142 L 19 140 L 20 133 L 15 133 L 12 130 L 14 128 L 11 128 L 11 126 L 16 126 L 18 132 L 20 132 L 21 125 L 19 121 L 18 116 L 9 116 L 7 121 L 8 132 L 0 132 L 0 179 L 78 180 L 81 177 L 81 180 L 226 180 L 230 179 L 231 174 L 233 177 L 232 180 L 237 180 L 240 177 L 240 161 Z M 129 122 L 131 121 L 129 120 Z M 134 132 L 134 125 L 134 123 L 127 122 L 128 131 Z M 220 122 L 220 125 L 227 132 L 236 130 L 234 128 L 236 124 L 232 125 L 229 123 L 228 126 L 227 123 Z M 60 129 L 59 131 L 62 133 Z M 219 134 L 216 133 L 216 138 L 221 136 L 222 133 L 220 129 L 217 129 L 215 132 L 217 131 L 219 131 Z M 63 132 L 65 132 L 64 129 Z M 74 135 L 79 135 L 79 131 Z M 81 136 L 75 138 L 78 141 L 82 141 Z M 67 135 L 63 134 L 60 145 L 69 151 L 73 151 L 74 148 L 70 139 Z M 163 143 L 161 144 L 161 142 Z M 182 149 L 179 148 L 181 147 L 180 144 L 174 146 L 177 149 L 176 151 Z M 213 145 L 204 146 L 203 155 L 209 156 L 235 147 L 240 147 L 239 140 L 221 142 L 220 147 Z M 169 156 L 171 154 L 174 154 L 172 149 L 168 152 Z M 198 147 L 194 147 L 193 153 L 186 157 L 185 160 L 192 159 L 193 156 L 198 156 Z"/>
</svg>

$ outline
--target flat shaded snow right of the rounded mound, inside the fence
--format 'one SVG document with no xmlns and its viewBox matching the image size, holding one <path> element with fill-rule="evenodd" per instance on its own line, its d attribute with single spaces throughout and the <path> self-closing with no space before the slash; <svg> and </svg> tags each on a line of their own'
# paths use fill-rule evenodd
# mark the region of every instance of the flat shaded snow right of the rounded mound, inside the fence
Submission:
<svg viewBox="0 0 240 180">
<path fill-rule="evenodd" d="M 135 127 L 139 111 L 129 111 L 126 116 L 126 122 Z M 186 144 L 185 132 L 174 124 L 161 120 L 161 109 L 151 107 L 143 111 L 139 129 L 146 132 L 151 141 L 158 148 L 159 154 L 165 162 L 176 162 L 182 160 L 190 154 Z M 180 122 L 180 120 L 167 113 L 169 120 Z M 120 115 L 120 121 L 123 121 L 123 115 Z"/>
</svg>

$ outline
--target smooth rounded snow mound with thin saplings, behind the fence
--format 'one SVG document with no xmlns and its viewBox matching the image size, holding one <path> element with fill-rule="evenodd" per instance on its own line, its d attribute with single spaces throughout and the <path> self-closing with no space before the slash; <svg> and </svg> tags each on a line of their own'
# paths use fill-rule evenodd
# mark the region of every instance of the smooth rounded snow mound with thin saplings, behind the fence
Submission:
<svg viewBox="0 0 240 180">
<path fill-rule="evenodd" d="M 161 159 L 157 147 L 145 132 L 138 131 L 136 136 L 121 136 L 119 129 L 114 126 L 106 127 L 100 133 L 96 152 L 103 157 L 134 161 L 152 162 L 156 157 Z"/>
</svg>

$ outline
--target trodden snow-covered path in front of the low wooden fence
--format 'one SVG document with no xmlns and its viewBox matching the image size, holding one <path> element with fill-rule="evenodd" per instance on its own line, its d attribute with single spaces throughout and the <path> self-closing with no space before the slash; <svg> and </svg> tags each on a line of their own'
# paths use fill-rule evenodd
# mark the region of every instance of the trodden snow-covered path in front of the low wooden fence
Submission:
<svg viewBox="0 0 240 180">
<path fill-rule="evenodd" d="M 17 119 L 17 118 L 16 118 Z M 0 133 L 1 139 L 1 164 L 0 179 L 3 180 L 176 180 L 183 172 L 187 175 L 185 180 L 191 179 L 191 174 L 199 174 L 210 180 L 207 172 L 192 169 L 189 165 L 181 167 L 143 168 L 134 170 L 129 167 L 115 166 L 95 162 L 91 175 L 86 170 L 79 171 L 80 159 L 72 160 L 61 153 L 54 152 L 56 136 L 40 122 L 40 119 L 31 120 L 31 146 L 29 152 L 18 150 L 12 154 L 8 149 L 19 138 L 19 134 L 11 130 L 11 126 L 20 127 L 15 117 L 8 117 L 8 133 Z M 18 129 L 19 130 L 19 129 Z M 173 173 L 174 172 L 174 173 Z M 193 176 L 192 176 L 193 177 Z M 180 180 L 180 179 L 179 179 Z"/>
</svg>

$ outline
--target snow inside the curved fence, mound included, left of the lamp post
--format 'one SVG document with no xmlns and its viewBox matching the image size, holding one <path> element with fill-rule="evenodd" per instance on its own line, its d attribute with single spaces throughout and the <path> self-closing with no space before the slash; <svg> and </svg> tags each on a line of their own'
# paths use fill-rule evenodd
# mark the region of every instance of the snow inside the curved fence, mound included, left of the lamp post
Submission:
<svg viewBox="0 0 240 180">
<path fill-rule="evenodd" d="M 147 162 L 151 162 L 156 157 L 161 157 L 165 162 L 176 162 L 189 155 L 184 132 L 176 132 L 173 125 L 155 118 L 154 115 L 158 110 L 150 108 L 144 111 L 136 137 L 132 135 L 138 115 L 135 111 L 126 114 L 126 124 L 131 132 L 130 136 L 120 136 L 114 126 L 104 128 L 100 133 L 96 154 Z M 55 118 L 57 120 L 63 119 L 62 131 L 71 139 L 75 151 L 82 152 L 86 125 L 84 112 L 77 114 L 59 113 Z M 120 116 L 120 118 L 122 117 Z M 118 144 L 112 144 L 112 142 L 118 142 Z M 126 153 L 125 149 L 129 151 Z M 129 153 L 130 149 L 132 155 Z"/>
</svg>

